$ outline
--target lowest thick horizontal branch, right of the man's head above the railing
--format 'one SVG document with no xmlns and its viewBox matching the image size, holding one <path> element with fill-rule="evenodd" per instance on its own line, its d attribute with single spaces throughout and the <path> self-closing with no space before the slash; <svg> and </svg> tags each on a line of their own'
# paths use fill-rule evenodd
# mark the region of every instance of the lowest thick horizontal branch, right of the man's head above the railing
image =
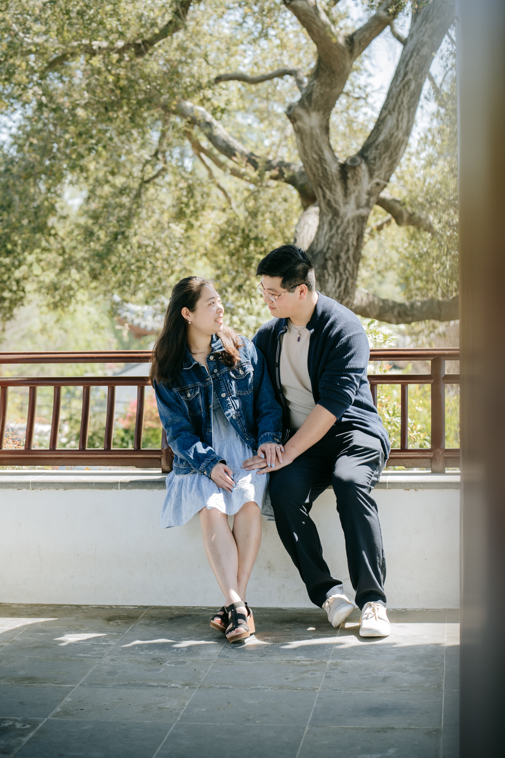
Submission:
<svg viewBox="0 0 505 758">
<path fill-rule="evenodd" d="M 364 318 L 376 318 L 388 324 L 412 324 L 413 321 L 457 321 L 460 318 L 459 298 L 450 300 L 413 300 L 395 302 L 384 300 L 357 288 L 352 306 L 354 313 Z"/>
</svg>

